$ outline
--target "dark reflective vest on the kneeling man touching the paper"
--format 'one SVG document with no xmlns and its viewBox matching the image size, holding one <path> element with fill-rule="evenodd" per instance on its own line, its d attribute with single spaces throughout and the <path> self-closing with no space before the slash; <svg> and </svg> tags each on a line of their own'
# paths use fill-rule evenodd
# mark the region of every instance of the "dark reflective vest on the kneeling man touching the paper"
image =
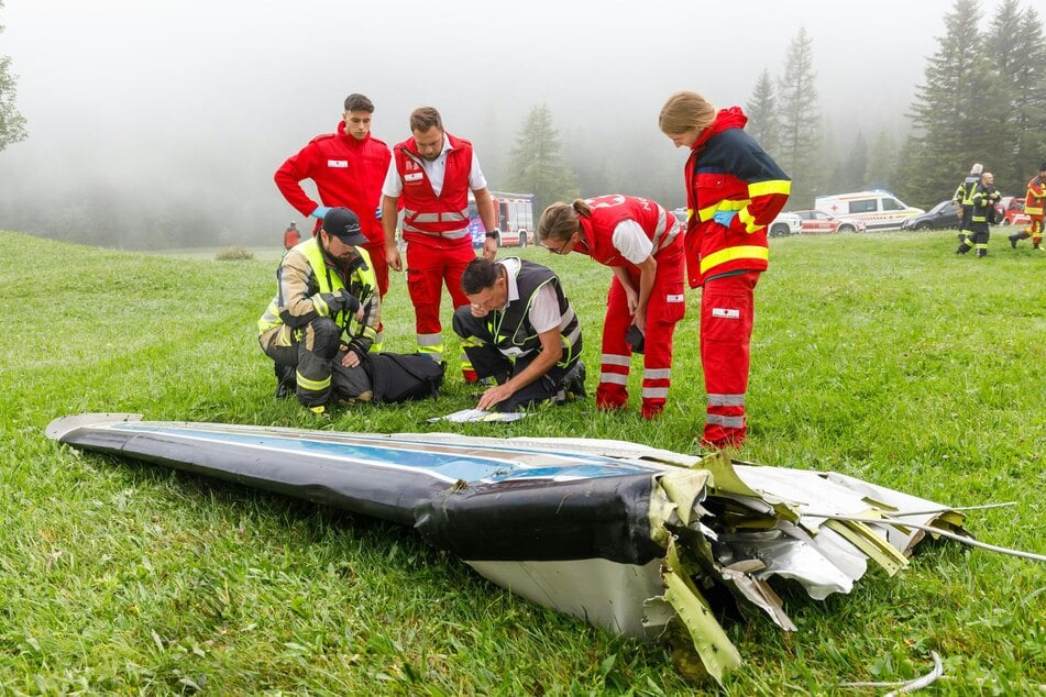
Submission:
<svg viewBox="0 0 1046 697">
<path fill-rule="evenodd" d="M 502 268 L 506 273 L 510 270 L 504 264 Z M 565 365 L 581 353 L 581 324 L 560 287 L 559 277 L 549 267 L 520 259 L 519 270 L 516 274 L 519 298 L 509 302 L 504 310 L 494 310 L 487 314 L 486 324 L 494 336 L 494 345 L 507 356 L 522 356 L 540 348 L 541 338 L 531 327 L 529 313 L 533 297 L 547 284 L 552 285 L 557 302 L 559 302 L 560 334 L 563 339 L 563 355 L 559 365 Z"/>
</svg>

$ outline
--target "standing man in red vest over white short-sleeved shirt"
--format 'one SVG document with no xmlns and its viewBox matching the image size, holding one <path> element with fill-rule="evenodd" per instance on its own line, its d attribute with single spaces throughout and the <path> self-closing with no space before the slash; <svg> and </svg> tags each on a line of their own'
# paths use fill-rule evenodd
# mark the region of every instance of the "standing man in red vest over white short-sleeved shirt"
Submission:
<svg viewBox="0 0 1046 697">
<path fill-rule="evenodd" d="M 385 255 L 394 270 L 403 270 L 404 262 L 396 248 L 396 211 L 401 200 L 407 290 L 414 303 L 418 351 L 440 363 L 442 286 L 445 284 L 454 309 L 469 305 L 461 289 L 461 275 L 476 256 L 469 233 L 469 191 L 475 196 L 480 221 L 487 231 L 483 256 L 488 259 L 497 252 L 494 202 L 472 143 L 447 133 L 436 109 L 415 109 L 410 132 L 411 137 L 393 147 L 382 188 Z M 475 370 L 464 353 L 461 362 L 465 380 L 475 381 Z"/>
</svg>

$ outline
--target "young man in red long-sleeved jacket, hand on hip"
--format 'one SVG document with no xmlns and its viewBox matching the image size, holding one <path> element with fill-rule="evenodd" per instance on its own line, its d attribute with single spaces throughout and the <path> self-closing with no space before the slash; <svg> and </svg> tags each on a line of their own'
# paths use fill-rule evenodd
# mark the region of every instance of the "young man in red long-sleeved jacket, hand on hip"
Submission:
<svg viewBox="0 0 1046 697">
<path fill-rule="evenodd" d="M 388 292 L 388 268 L 385 264 L 385 233 L 382 230 L 382 181 L 392 155 L 388 145 L 371 135 L 374 104 L 363 95 L 349 95 L 337 133 L 317 135 L 297 155 L 287 158 L 274 179 L 279 192 L 302 215 L 317 219 L 319 230 L 331 207 L 342 206 L 360 217 L 366 237 L 363 248 L 373 262 L 382 297 Z M 311 179 L 320 202 L 317 203 L 299 184 Z M 393 215 L 395 219 L 395 215 Z"/>
</svg>

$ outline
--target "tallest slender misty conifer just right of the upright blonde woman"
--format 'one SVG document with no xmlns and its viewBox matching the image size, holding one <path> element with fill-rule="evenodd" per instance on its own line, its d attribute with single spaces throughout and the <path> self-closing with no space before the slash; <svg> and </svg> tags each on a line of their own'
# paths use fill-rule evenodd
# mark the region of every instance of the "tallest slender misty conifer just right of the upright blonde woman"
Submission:
<svg viewBox="0 0 1046 697">
<path fill-rule="evenodd" d="M 816 188 L 821 117 L 814 78 L 813 41 L 806 27 L 800 27 L 789 45 L 784 75 L 778 80 L 781 152 L 775 159 L 792 178 L 792 199 L 799 201 L 793 208 L 808 206 Z"/>
</svg>

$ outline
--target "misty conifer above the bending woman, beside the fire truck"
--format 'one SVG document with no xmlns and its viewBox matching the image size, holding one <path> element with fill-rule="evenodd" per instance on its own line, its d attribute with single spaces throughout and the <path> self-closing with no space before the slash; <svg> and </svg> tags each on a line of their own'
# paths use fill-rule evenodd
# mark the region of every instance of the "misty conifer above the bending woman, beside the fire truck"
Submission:
<svg viewBox="0 0 1046 697">
<path fill-rule="evenodd" d="M 533 193 L 536 213 L 553 201 L 572 201 L 580 195 L 574 172 L 566 166 L 561 148 L 548 106 L 533 107 L 508 155 L 507 172 L 513 191 Z"/>
</svg>

